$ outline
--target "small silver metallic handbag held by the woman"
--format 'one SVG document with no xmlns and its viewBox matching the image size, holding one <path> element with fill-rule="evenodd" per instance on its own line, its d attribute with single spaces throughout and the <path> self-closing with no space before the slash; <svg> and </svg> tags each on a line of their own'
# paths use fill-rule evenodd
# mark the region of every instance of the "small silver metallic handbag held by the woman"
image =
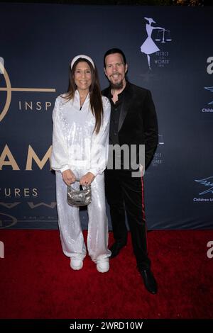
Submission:
<svg viewBox="0 0 213 333">
<path fill-rule="evenodd" d="M 80 181 L 80 179 L 76 179 L 76 181 Z M 80 185 L 78 190 L 72 188 L 71 185 L 67 186 L 67 203 L 69 205 L 74 205 L 76 207 L 80 207 L 82 205 L 89 205 L 92 201 L 92 192 L 91 186 L 85 186 L 82 188 Z"/>
</svg>

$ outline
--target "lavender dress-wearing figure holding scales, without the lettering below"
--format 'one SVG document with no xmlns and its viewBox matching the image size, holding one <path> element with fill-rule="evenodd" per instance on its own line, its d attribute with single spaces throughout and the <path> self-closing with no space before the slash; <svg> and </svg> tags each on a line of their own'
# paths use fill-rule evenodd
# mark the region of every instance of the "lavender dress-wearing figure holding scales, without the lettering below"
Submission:
<svg viewBox="0 0 213 333">
<path fill-rule="evenodd" d="M 153 23 L 156 23 L 153 18 L 145 17 L 145 19 L 148 21 L 148 23 L 146 23 L 147 38 L 141 45 L 141 52 L 147 56 L 148 68 L 151 69 L 151 55 L 160 51 L 160 46 L 158 47 L 152 38 L 153 30 L 158 30 L 158 33 L 154 38 L 156 42 L 167 43 L 170 42 L 172 38 L 170 35 L 170 30 L 166 30 L 162 27 L 152 26 Z"/>
</svg>

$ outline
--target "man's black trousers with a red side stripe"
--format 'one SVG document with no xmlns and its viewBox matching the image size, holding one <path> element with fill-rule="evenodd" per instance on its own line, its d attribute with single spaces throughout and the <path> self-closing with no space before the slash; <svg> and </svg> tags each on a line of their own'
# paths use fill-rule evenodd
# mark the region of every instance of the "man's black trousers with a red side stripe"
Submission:
<svg viewBox="0 0 213 333">
<path fill-rule="evenodd" d="M 144 212 L 143 178 L 132 177 L 129 170 L 105 170 L 105 188 L 111 214 L 115 242 L 126 244 L 125 212 L 131 232 L 137 265 L 148 269 L 146 220 Z"/>
</svg>

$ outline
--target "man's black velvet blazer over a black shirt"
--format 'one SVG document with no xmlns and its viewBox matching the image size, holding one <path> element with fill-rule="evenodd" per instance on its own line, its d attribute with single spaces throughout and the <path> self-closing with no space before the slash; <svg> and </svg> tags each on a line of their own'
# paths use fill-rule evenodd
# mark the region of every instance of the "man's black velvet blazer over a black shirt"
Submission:
<svg viewBox="0 0 213 333">
<path fill-rule="evenodd" d="M 102 91 L 111 98 L 111 87 Z M 119 118 L 119 144 L 145 145 L 146 168 L 158 145 L 158 122 L 151 91 L 126 83 Z"/>
</svg>

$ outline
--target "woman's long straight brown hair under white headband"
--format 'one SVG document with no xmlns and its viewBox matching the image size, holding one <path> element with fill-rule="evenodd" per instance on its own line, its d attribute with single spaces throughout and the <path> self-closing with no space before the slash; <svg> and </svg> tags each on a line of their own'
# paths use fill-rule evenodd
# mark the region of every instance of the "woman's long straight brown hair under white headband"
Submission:
<svg viewBox="0 0 213 333">
<path fill-rule="evenodd" d="M 75 75 L 75 68 L 79 62 L 87 62 L 87 64 L 89 64 L 89 68 L 92 73 L 92 84 L 91 86 L 89 86 L 89 101 L 92 114 L 94 115 L 95 118 L 94 132 L 98 133 L 102 125 L 103 112 L 104 112 L 102 104 L 102 93 L 100 89 L 97 68 L 96 67 L 93 68 L 89 60 L 84 58 L 78 58 L 76 62 L 73 64 L 72 69 L 70 69 L 70 81 L 67 89 L 67 94 L 63 96 L 63 98 L 67 99 L 68 101 L 74 98 L 75 91 L 77 89 L 74 75 Z"/>
</svg>

